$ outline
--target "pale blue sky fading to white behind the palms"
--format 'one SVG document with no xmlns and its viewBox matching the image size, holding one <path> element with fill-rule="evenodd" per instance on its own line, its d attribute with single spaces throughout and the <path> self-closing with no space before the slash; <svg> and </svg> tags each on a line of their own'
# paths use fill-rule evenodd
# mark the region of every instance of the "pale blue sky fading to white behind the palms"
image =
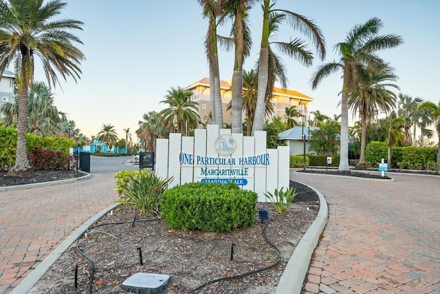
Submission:
<svg viewBox="0 0 440 294">
<path fill-rule="evenodd" d="M 197 0 L 65 0 L 60 18 L 83 21 L 83 31 L 74 34 L 84 44 L 77 47 L 86 60 L 78 83 L 67 77 L 54 92 L 58 110 L 86 136 L 96 135 L 103 124 L 115 127 L 120 138 L 130 128 L 135 140 L 142 115 L 159 112 L 160 103 L 171 87 L 186 87 L 208 77 L 203 38 L 208 20 L 203 19 Z M 250 12 L 253 46 L 244 70 L 251 70 L 259 58 L 263 16 L 261 0 Z M 319 65 L 338 61 L 333 45 L 344 41 L 355 25 L 372 17 L 382 20 L 380 34 L 398 34 L 404 44 L 382 50 L 379 55 L 395 68 L 400 93 L 439 103 L 440 93 L 440 1 L 437 0 L 278 0 L 274 8 L 290 10 L 314 20 L 327 44 L 325 61 L 307 36 L 283 25 L 272 41 L 300 37 L 309 44 L 316 58 L 311 67 L 283 55 L 289 78 L 288 89 L 314 98 L 309 112 L 319 110 L 327 116 L 340 114 L 342 72 L 323 80 L 316 90 L 310 78 Z M 228 36 L 231 23 L 219 28 Z M 219 52 L 220 78 L 232 77 L 233 52 Z M 38 68 L 35 81 L 46 81 Z M 278 85 L 279 86 L 279 85 Z M 350 114 L 351 116 L 351 114 Z"/>
</svg>

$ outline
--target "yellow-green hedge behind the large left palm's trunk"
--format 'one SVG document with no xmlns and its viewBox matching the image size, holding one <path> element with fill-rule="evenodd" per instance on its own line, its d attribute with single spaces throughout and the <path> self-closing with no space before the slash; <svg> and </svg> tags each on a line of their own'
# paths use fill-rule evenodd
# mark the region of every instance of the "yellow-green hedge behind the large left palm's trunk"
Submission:
<svg viewBox="0 0 440 294">
<path fill-rule="evenodd" d="M 41 137 L 26 134 L 26 153 L 32 156 L 35 148 L 63 152 L 66 156 L 70 148 L 74 147 L 74 140 L 69 138 Z M 13 127 L 0 127 L 0 171 L 10 169 L 15 163 L 17 152 L 17 129 Z"/>
</svg>

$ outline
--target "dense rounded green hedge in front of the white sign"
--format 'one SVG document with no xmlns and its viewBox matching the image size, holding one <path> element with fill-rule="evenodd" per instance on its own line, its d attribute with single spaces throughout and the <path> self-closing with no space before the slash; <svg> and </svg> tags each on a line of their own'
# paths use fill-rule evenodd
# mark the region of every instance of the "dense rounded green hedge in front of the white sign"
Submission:
<svg viewBox="0 0 440 294">
<path fill-rule="evenodd" d="M 162 194 L 162 218 L 184 230 L 230 231 L 252 227 L 258 195 L 233 182 L 194 182 Z"/>
</svg>

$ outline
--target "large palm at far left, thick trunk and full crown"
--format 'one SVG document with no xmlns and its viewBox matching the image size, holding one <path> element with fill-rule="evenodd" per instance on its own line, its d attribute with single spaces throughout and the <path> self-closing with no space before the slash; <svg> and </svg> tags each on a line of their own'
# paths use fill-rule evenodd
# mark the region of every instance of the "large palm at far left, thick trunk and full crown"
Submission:
<svg viewBox="0 0 440 294">
<path fill-rule="evenodd" d="M 49 83 L 58 83 L 58 71 L 63 78 L 80 77 L 80 61 L 84 55 L 74 43 L 82 43 L 67 30 L 82 30 L 80 21 L 57 19 L 66 3 L 59 0 L 0 0 L 0 77 L 11 62 L 19 72 L 19 116 L 17 155 L 11 174 L 32 174 L 26 154 L 28 117 L 28 87 L 34 78 L 34 57 L 41 59 Z"/>
</svg>

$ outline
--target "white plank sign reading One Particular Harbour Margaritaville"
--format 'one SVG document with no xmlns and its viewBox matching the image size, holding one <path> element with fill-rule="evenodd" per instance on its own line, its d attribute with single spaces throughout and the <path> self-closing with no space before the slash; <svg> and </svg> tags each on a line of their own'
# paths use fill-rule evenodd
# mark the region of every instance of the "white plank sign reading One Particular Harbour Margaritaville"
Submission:
<svg viewBox="0 0 440 294">
<path fill-rule="evenodd" d="M 289 187 L 289 147 L 266 149 L 266 132 L 254 137 L 231 134 L 230 129 L 208 125 L 194 137 L 172 133 L 156 141 L 156 176 L 174 177 L 170 187 L 186 182 L 230 182 L 264 193 Z"/>
</svg>

